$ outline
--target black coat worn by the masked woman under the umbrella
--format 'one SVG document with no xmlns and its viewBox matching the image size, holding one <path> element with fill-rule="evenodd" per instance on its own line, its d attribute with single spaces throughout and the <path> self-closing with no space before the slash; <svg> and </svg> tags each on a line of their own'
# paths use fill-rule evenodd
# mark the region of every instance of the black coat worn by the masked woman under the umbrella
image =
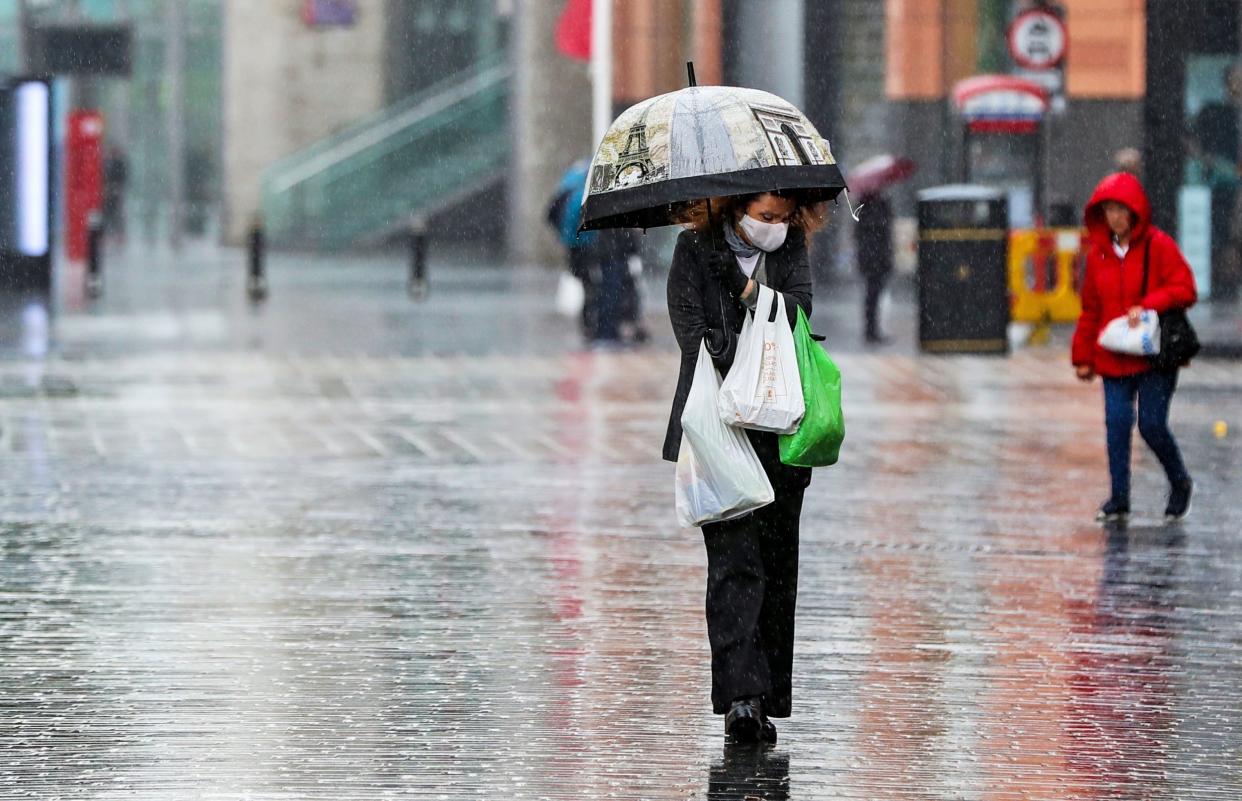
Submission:
<svg viewBox="0 0 1242 801">
<path fill-rule="evenodd" d="M 717 232 L 717 248 L 724 253 L 729 252 L 724 237 Z M 714 276 L 710 276 L 705 265 L 705 256 L 712 248 L 712 238 L 705 232 L 684 231 L 677 237 L 677 248 L 673 251 L 673 265 L 668 271 L 668 317 L 673 323 L 673 334 L 682 351 L 681 374 L 677 378 L 677 394 L 673 396 L 673 409 L 668 415 L 668 431 L 664 435 L 663 457 L 669 462 L 677 461 L 677 451 L 682 443 L 682 409 L 691 392 L 691 384 L 694 379 L 694 365 L 698 363 L 699 343 L 703 337 L 708 337 L 708 343 L 720 342 L 720 332 L 732 330 L 730 344 L 737 342 L 737 333 L 741 332 L 741 320 L 745 314 L 745 305 L 740 301 L 730 298 L 720 288 Z M 806 256 L 806 236 L 790 229 L 789 236 L 779 250 L 768 253 L 765 267 L 768 286 L 785 296 L 785 312 L 789 314 L 789 324 L 797 322 L 797 307 L 802 307 L 807 318 L 811 317 L 811 266 Z M 733 348 L 720 349 L 713 353 L 715 366 L 722 375 L 727 375 L 733 366 Z M 769 476 L 774 472 L 775 464 L 770 464 L 775 455 L 776 436 L 763 435 L 760 432 L 748 432 L 755 442 Z M 770 442 L 769 442 L 770 440 Z M 777 461 L 779 463 L 779 461 Z M 811 472 L 805 468 L 785 468 L 796 472 L 795 484 L 806 486 Z"/>
</svg>

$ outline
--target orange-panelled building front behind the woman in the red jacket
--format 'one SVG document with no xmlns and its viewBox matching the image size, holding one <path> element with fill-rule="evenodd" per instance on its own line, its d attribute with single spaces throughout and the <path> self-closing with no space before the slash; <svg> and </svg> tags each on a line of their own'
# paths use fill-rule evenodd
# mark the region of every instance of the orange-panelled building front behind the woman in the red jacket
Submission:
<svg viewBox="0 0 1242 801">
<path fill-rule="evenodd" d="M 1237 297 L 1242 70 L 1235 66 L 1242 4 L 887 0 L 884 5 L 889 144 L 920 165 L 910 189 L 961 179 L 966 156 L 953 87 L 977 73 L 1025 75 L 1010 53 L 1006 29 L 1023 12 L 1051 10 L 1063 20 L 1067 47 L 1042 145 L 1045 221 L 1073 222 L 1100 176 L 1123 166 L 1135 169 L 1151 197 L 1156 225 L 1177 236 L 1195 265 L 1201 294 L 1225 302 Z M 1130 155 L 1135 152 L 1138 158 Z M 909 209 L 909 191 L 905 200 Z"/>
</svg>

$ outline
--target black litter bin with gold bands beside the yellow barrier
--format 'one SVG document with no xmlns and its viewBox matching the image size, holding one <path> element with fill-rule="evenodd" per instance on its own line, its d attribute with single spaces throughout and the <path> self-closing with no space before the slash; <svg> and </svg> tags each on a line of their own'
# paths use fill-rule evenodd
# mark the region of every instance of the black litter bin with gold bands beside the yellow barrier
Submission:
<svg viewBox="0 0 1242 801">
<path fill-rule="evenodd" d="M 985 186 L 935 186 L 919 200 L 919 346 L 1009 353 L 1009 209 Z"/>
</svg>

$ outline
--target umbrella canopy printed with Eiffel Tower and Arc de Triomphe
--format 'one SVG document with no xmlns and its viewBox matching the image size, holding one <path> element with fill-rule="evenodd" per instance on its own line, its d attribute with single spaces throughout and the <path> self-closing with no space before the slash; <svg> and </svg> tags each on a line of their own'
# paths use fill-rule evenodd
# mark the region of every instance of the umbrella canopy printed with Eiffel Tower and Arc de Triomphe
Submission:
<svg viewBox="0 0 1242 801">
<path fill-rule="evenodd" d="M 582 230 L 673 222 L 673 205 L 776 189 L 831 200 L 845 180 L 827 140 L 775 94 L 696 86 L 643 101 L 591 161 Z"/>
</svg>

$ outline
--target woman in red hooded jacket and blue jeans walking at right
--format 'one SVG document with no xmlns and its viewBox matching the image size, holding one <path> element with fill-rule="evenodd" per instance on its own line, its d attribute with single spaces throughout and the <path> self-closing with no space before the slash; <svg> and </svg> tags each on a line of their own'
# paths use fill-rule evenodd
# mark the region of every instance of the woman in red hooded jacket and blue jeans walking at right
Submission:
<svg viewBox="0 0 1242 801">
<path fill-rule="evenodd" d="M 1143 185 L 1129 173 L 1115 173 L 1099 183 L 1087 204 L 1086 222 L 1087 274 L 1083 313 L 1074 330 L 1073 364 L 1083 381 L 1097 375 L 1104 380 L 1113 487 L 1097 519 L 1124 520 L 1130 514 L 1130 441 L 1136 402 L 1139 433 L 1169 478 L 1165 519 L 1180 520 L 1190 512 L 1195 484 L 1169 430 L 1169 404 L 1177 387 L 1177 370 L 1156 370 L 1146 358 L 1113 353 L 1097 340 L 1114 318 L 1126 317 L 1130 325 L 1138 325 L 1144 309 L 1160 313 L 1194 305 L 1195 276 L 1172 237 L 1151 225 L 1151 204 Z"/>
</svg>

